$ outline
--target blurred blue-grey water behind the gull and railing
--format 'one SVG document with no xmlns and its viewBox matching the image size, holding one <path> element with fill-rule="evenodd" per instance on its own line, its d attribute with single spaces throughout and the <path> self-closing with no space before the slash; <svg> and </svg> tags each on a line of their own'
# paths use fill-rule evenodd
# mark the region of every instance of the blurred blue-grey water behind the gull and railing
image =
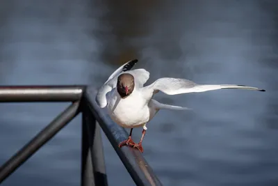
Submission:
<svg viewBox="0 0 278 186">
<path fill-rule="evenodd" d="M 122 63 L 159 77 L 246 84 L 156 99 L 144 157 L 166 185 L 278 185 L 278 5 L 273 1 L 2 0 L 0 84 L 90 84 Z M 148 82 L 148 83 L 149 83 Z M 0 104 L 0 163 L 68 104 Z M 79 185 L 81 117 L 2 185 Z M 141 129 L 134 132 L 140 139 Z M 110 185 L 134 185 L 104 139 Z"/>
</svg>

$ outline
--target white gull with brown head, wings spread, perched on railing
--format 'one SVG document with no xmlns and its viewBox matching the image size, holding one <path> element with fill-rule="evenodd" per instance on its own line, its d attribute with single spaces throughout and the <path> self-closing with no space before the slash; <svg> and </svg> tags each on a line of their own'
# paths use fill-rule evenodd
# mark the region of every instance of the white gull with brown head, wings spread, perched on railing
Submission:
<svg viewBox="0 0 278 186">
<path fill-rule="evenodd" d="M 154 118 L 161 109 L 188 110 L 187 107 L 179 107 L 170 104 L 163 104 L 153 99 L 159 91 L 167 95 L 177 95 L 181 93 L 199 93 L 219 89 L 246 89 L 252 91 L 265 91 L 260 88 L 236 84 L 196 84 L 188 79 L 178 79 L 163 77 L 157 79 L 149 86 L 144 84 L 149 79 L 149 72 L 145 69 L 131 70 L 138 62 L 133 59 L 124 63 L 115 70 L 101 88 L 97 91 L 96 102 L 99 107 L 107 106 L 111 119 L 124 128 L 130 128 L 128 139 L 119 144 L 138 148 L 143 152 L 142 140 L 147 131 L 147 123 Z M 131 139 L 132 130 L 135 127 L 142 127 L 142 137 L 136 144 Z"/>
</svg>

